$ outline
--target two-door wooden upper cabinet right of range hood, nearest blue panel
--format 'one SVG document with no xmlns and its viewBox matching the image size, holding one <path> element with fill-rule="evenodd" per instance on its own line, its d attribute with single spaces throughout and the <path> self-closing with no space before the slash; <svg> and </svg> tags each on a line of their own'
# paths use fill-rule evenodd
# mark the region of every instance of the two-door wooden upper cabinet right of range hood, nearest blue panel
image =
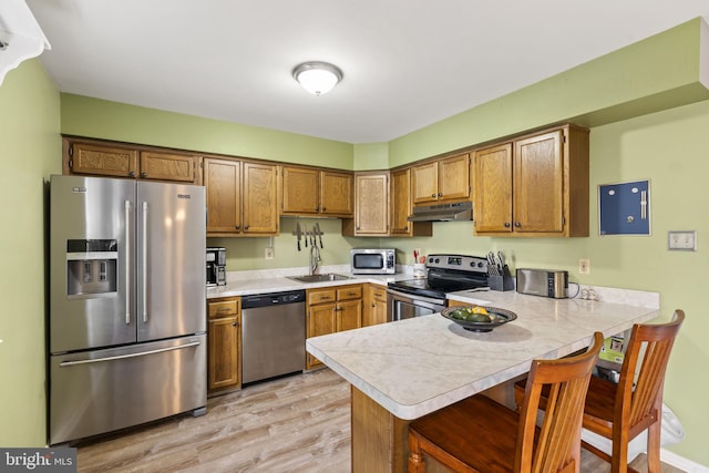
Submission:
<svg viewBox="0 0 709 473">
<path fill-rule="evenodd" d="M 475 235 L 588 236 L 588 130 L 565 125 L 477 150 Z"/>
</svg>

